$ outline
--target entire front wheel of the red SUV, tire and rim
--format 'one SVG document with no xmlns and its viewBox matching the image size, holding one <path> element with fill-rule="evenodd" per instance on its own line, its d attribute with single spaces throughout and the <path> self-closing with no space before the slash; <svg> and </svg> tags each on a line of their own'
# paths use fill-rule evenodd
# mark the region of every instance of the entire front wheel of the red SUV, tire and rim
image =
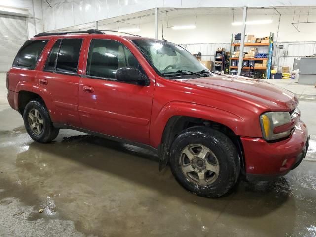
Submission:
<svg viewBox="0 0 316 237">
<path fill-rule="evenodd" d="M 176 180 L 202 197 L 221 197 L 236 183 L 240 159 L 233 142 L 208 127 L 180 133 L 170 149 L 170 167 Z"/>
</svg>

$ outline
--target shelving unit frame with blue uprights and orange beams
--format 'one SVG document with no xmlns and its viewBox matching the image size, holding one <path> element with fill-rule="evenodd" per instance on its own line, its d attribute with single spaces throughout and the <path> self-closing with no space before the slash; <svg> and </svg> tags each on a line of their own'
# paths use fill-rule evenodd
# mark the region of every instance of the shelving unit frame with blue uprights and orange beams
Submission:
<svg viewBox="0 0 316 237">
<path fill-rule="evenodd" d="M 230 55 L 232 55 L 232 53 L 234 51 L 237 51 L 235 47 L 240 47 L 240 43 L 234 43 L 234 34 L 232 34 L 232 38 L 231 38 L 231 49 L 230 49 Z M 270 78 L 270 68 L 271 68 L 271 61 L 272 61 L 272 49 L 273 49 L 273 33 L 270 32 L 270 36 L 269 36 L 269 43 L 245 43 L 244 47 L 268 47 L 268 49 L 266 50 L 268 57 L 267 58 L 243 58 L 243 61 L 249 61 L 249 60 L 253 60 L 253 61 L 258 61 L 258 63 L 260 63 L 260 61 L 263 60 L 267 60 L 267 67 L 255 67 L 255 71 L 256 70 L 265 70 L 265 78 L 269 79 Z M 233 58 L 230 57 L 229 59 L 229 65 L 232 65 L 232 60 L 239 60 L 239 58 Z M 238 69 L 238 66 L 230 66 L 229 67 L 229 73 L 231 73 L 231 69 Z M 249 69 L 249 67 L 244 67 L 243 69 Z"/>
</svg>

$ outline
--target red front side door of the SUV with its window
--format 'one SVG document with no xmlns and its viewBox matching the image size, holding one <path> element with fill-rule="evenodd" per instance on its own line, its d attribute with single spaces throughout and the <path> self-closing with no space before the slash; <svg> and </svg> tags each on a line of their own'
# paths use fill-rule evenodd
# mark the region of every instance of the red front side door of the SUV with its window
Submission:
<svg viewBox="0 0 316 237">
<path fill-rule="evenodd" d="M 149 143 L 154 83 L 118 82 L 118 68 L 143 70 L 121 42 L 91 39 L 86 75 L 79 82 L 78 110 L 84 129 L 140 143 Z"/>
</svg>

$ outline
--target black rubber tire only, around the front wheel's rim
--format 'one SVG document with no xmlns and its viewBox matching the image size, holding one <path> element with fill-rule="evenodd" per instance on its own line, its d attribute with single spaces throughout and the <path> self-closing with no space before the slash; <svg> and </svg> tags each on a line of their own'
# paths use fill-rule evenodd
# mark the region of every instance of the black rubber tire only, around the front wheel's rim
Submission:
<svg viewBox="0 0 316 237">
<path fill-rule="evenodd" d="M 210 185 L 207 185 L 207 183 L 198 185 L 182 171 L 180 163 L 183 162 L 180 160 L 183 159 L 182 151 L 190 144 L 201 144 L 216 156 L 219 171 L 218 175 L 214 177 L 216 179 Z M 192 163 L 192 161 L 190 162 Z M 240 173 L 240 159 L 233 142 L 225 134 L 202 126 L 190 127 L 175 138 L 170 148 L 169 163 L 171 171 L 179 184 L 188 191 L 202 197 L 216 198 L 223 196 L 235 185 Z"/>
</svg>

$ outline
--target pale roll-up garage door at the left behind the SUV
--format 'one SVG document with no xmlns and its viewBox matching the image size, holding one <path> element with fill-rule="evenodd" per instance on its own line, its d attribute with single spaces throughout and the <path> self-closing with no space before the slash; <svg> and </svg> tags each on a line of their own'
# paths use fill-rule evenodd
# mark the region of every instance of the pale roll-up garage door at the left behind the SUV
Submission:
<svg viewBox="0 0 316 237">
<path fill-rule="evenodd" d="M 7 72 L 28 39 L 25 17 L 0 14 L 0 72 Z"/>
</svg>

